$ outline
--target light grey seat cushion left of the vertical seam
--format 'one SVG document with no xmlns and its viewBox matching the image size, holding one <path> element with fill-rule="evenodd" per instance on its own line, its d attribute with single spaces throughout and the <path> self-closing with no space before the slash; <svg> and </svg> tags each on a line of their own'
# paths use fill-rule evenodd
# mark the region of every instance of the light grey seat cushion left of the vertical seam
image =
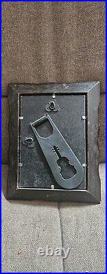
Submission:
<svg viewBox="0 0 107 274">
<path fill-rule="evenodd" d="M 3 190 L 7 177 L 3 166 Z M 38 256 L 42 247 L 62 247 L 57 203 L 6 201 L 2 203 L 3 272 L 62 272 L 62 257 Z"/>
</svg>

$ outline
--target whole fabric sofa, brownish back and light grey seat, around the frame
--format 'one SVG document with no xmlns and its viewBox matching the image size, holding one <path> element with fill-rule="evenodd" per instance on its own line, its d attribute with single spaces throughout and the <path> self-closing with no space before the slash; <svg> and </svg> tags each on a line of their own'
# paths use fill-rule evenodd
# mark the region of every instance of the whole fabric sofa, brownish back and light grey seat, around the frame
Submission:
<svg viewBox="0 0 107 274">
<path fill-rule="evenodd" d="M 10 82 L 101 82 L 100 161 L 105 161 L 105 3 L 2 3 L 2 272 L 105 272 L 105 166 L 99 205 L 6 201 Z M 66 260 L 38 247 L 71 247 Z M 20 253 L 21 250 L 21 253 Z"/>
</svg>

